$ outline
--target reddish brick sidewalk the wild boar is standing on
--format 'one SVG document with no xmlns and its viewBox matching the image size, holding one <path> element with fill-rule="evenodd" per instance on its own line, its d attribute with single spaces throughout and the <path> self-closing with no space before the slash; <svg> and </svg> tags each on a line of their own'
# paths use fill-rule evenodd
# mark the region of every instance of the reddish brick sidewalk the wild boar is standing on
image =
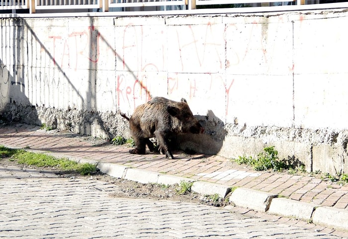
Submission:
<svg viewBox="0 0 348 239">
<path fill-rule="evenodd" d="M 311 176 L 257 172 L 234 165 L 215 155 L 174 153 L 174 160 L 160 154 L 132 155 L 127 146 L 86 140 L 77 134 L 45 131 L 27 124 L 0 125 L 0 145 L 30 147 L 62 156 L 86 158 L 125 165 L 167 175 L 186 177 L 219 184 L 243 186 L 282 195 L 301 202 L 348 210 L 348 185 L 338 185 Z"/>
</svg>

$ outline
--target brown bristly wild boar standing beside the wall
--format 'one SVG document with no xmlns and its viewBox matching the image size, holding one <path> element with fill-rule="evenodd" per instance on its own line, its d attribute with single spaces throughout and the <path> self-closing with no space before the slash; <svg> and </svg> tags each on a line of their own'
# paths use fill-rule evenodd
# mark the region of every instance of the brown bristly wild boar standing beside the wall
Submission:
<svg viewBox="0 0 348 239">
<path fill-rule="evenodd" d="M 135 149 L 129 150 L 131 154 L 145 154 L 146 145 L 151 152 L 154 145 L 150 138 L 156 137 L 161 154 L 166 158 L 174 159 L 169 147 L 169 138 L 178 133 L 201 133 L 203 128 L 187 105 L 185 99 L 180 102 L 164 97 L 154 97 L 147 103 L 138 106 L 133 115 L 128 118 L 131 135 L 135 142 Z"/>
</svg>

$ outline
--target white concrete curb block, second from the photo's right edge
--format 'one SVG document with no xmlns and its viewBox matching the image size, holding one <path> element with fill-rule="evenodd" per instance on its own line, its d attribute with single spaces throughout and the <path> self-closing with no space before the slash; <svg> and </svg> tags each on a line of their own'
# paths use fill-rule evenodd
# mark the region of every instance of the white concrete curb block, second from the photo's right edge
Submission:
<svg viewBox="0 0 348 239">
<path fill-rule="evenodd" d="M 301 220 L 310 220 L 317 205 L 288 198 L 273 198 L 268 213 Z"/>
</svg>

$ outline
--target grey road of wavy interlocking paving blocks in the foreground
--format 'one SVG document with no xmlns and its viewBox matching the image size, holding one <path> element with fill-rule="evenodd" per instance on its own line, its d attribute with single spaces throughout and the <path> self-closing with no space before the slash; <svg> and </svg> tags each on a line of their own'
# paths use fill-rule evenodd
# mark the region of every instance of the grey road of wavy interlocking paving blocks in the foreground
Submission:
<svg viewBox="0 0 348 239">
<path fill-rule="evenodd" d="M 104 181 L 1 166 L 0 238 L 340 238 L 286 218 L 270 222 L 186 202 L 111 197 L 117 190 Z"/>
</svg>

